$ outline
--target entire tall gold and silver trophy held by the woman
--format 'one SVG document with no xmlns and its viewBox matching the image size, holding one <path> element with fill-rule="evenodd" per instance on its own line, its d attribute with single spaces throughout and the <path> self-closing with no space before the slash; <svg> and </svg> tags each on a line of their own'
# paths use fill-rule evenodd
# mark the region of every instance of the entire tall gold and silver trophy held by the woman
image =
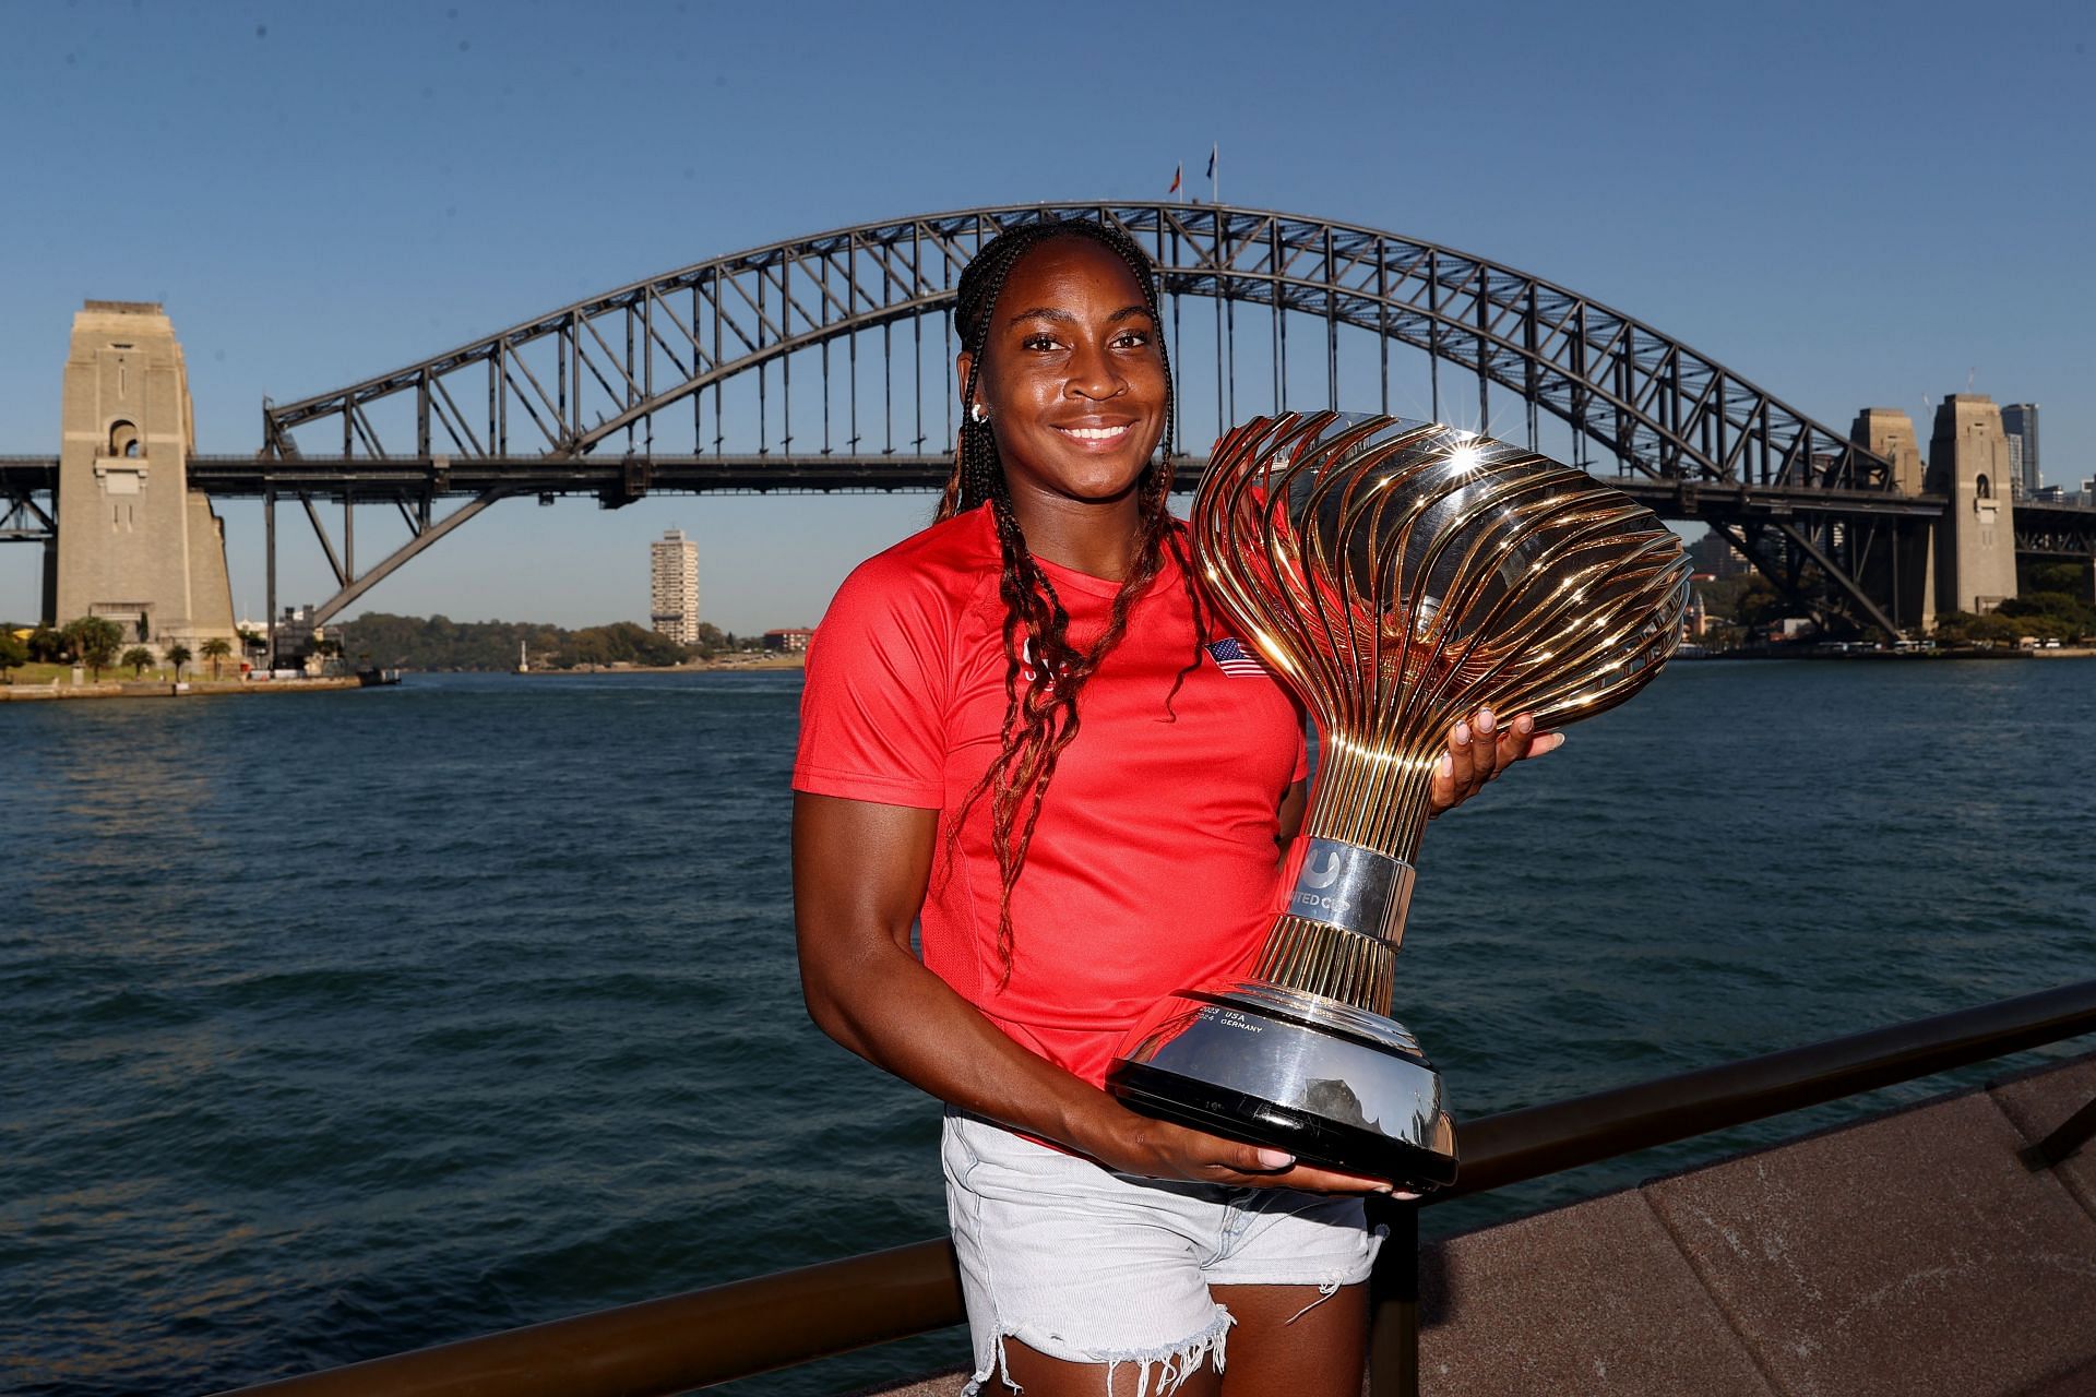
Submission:
<svg viewBox="0 0 2096 1397">
<path fill-rule="evenodd" d="M 1681 540 L 1585 471 L 1438 423 L 1260 417 L 1216 444 L 1193 557 L 1304 700 L 1318 773 L 1251 978 L 1167 997 L 1107 1079 L 1126 1106 L 1297 1160 L 1455 1181 L 1440 1074 L 1390 1018 L 1448 731 L 1597 714 L 1673 653 Z"/>
</svg>

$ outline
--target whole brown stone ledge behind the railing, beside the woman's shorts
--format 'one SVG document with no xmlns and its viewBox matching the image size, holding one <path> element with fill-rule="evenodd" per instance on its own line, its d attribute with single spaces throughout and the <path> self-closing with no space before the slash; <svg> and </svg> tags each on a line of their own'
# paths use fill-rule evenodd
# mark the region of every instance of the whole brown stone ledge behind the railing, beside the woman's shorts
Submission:
<svg viewBox="0 0 2096 1397">
<path fill-rule="evenodd" d="M 2016 1158 L 2092 1097 L 2096 1054 L 1427 1246 L 1421 1391 L 2096 1397 L 2096 1146 Z"/>
</svg>

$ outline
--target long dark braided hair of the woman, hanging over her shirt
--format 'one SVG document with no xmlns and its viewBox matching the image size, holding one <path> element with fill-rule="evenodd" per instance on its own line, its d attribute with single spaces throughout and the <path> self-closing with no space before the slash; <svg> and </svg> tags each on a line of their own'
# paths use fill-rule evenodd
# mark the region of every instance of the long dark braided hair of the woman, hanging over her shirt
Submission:
<svg viewBox="0 0 2096 1397">
<path fill-rule="evenodd" d="M 975 387 L 983 375 L 983 358 L 989 348 L 989 329 L 998 297 L 1019 260 L 1042 243 L 1054 239 L 1088 239 L 1107 247 L 1134 274 L 1142 287 L 1142 304 L 1151 314 L 1157 358 L 1165 369 L 1165 429 L 1159 434 L 1159 457 L 1142 471 L 1136 490 L 1142 505 L 1142 536 L 1134 566 L 1121 578 L 1121 589 L 1113 597 L 1113 612 L 1107 628 L 1088 647 L 1077 647 L 1069 639 L 1069 612 L 1054 591 L 1054 582 L 1027 551 L 1025 532 L 1012 513 L 1010 488 L 1004 480 L 1004 461 L 998 457 L 998 440 L 987 421 L 975 421 Z M 1054 777 L 1056 758 L 1077 735 L 1077 693 L 1098 670 L 1107 653 L 1128 633 L 1128 612 L 1163 572 L 1165 555 L 1178 559 L 1180 578 L 1195 609 L 1195 656 L 1180 670 L 1172 693 L 1184 683 L 1199 662 L 1199 645 L 1205 639 L 1201 593 L 1186 559 L 1186 545 L 1172 519 L 1172 463 L 1167 454 L 1172 425 L 1172 364 L 1165 360 L 1163 316 L 1157 308 L 1157 276 L 1151 260 L 1132 237 L 1119 228 L 1086 220 L 1042 220 L 1006 228 L 983 243 L 975 260 L 960 272 L 956 323 L 960 343 L 968 354 L 968 381 L 960 390 L 960 434 L 954 442 L 954 475 L 945 482 L 939 501 L 939 519 L 949 519 L 968 509 L 987 507 L 998 530 L 998 549 L 1004 557 L 1000 595 L 1004 599 L 1004 741 L 983 773 L 975 790 L 962 802 L 949 842 L 960 838 L 960 825 L 968 808 L 989 796 L 989 836 L 998 855 L 998 955 L 1004 961 L 1000 982 L 1012 978 L 1012 886 L 1025 867 L 1027 848 L 1033 842 L 1033 825 L 1040 821 L 1042 800 L 1048 781 Z M 1029 658 L 1027 658 L 1029 656 Z M 1167 695 L 1170 706 L 1170 695 Z"/>
</svg>

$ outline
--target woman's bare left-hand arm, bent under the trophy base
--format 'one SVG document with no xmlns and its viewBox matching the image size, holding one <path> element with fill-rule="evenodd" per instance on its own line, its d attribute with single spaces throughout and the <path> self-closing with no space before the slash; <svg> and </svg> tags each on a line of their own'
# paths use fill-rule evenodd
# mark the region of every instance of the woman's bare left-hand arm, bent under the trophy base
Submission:
<svg viewBox="0 0 2096 1397">
<path fill-rule="evenodd" d="M 1138 1116 L 1000 1033 L 910 949 L 937 821 L 937 811 L 794 796 L 801 989 L 824 1033 L 943 1102 L 1123 1173 L 1323 1192 L 1388 1190 L 1377 1179 L 1297 1167 L 1281 1150 Z"/>
</svg>

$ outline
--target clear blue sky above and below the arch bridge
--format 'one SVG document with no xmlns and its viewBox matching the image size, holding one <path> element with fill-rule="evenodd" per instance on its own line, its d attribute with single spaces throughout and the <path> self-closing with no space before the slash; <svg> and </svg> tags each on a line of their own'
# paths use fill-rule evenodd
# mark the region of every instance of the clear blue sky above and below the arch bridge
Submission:
<svg viewBox="0 0 2096 1397">
<path fill-rule="evenodd" d="M 199 448 L 583 295 L 931 209 L 1195 193 L 1490 256 L 1847 427 L 2039 402 L 2096 475 L 2096 8 L 0 0 L 0 452 L 57 452 L 84 297 L 161 300 Z M 1926 436 L 1926 425 L 1922 427 Z M 367 597 L 813 622 L 926 496 L 509 503 Z M 224 509 L 260 612 L 260 517 Z M 321 599 L 287 536 L 283 601 Z M 36 607 L 0 549 L 0 614 Z"/>
</svg>

